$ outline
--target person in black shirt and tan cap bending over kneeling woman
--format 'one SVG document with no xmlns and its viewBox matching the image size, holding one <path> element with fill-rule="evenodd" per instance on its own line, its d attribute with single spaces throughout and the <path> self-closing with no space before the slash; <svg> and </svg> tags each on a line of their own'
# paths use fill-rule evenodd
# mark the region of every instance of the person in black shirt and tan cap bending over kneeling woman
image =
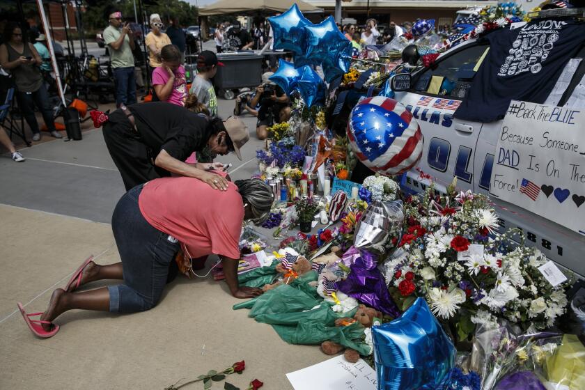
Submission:
<svg viewBox="0 0 585 390">
<path fill-rule="evenodd" d="M 94 125 L 99 127 L 100 120 Z M 241 160 L 240 148 L 250 138 L 240 118 L 209 118 L 166 102 L 120 107 L 104 120 L 104 140 L 126 190 L 174 173 L 198 178 L 214 189 L 225 191 L 227 181 L 208 171 L 222 164 L 192 166 L 185 160 L 206 147 L 211 157 L 233 152 Z"/>
</svg>

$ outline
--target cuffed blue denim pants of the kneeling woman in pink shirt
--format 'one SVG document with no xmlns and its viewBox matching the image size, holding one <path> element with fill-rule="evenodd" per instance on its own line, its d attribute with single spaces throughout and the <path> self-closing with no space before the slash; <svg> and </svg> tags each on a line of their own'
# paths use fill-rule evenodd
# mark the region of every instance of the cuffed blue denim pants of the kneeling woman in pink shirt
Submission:
<svg viewBox="0 0 585 390">
<path fill-rule="evenodd" d="M 153 308 L 162 295 L 179 242 L 144 219 L 138 207 L 143 185 L 130 189 L 116 205 L 111 228 L 122 259 L 124 284 L 109 286 L 109 311 L 134 313 Z M 176 240 L 174 240 L 176 241 Z"/>
</svg>

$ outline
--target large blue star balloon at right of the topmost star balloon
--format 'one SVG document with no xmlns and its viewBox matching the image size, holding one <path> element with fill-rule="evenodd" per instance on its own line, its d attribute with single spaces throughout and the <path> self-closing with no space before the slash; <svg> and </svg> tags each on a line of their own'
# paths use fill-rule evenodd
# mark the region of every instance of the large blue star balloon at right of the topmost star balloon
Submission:
<svg viewBox="0 0 585 390">
<path fill-rule="evenodd" d="M 305 26 L 306 60 L 321 63 L 325 80 L 331 82 L 348 72 L 352 44 L 337 28 L 333 17 L 329 16 L 319 24 Z"/>
</svg>

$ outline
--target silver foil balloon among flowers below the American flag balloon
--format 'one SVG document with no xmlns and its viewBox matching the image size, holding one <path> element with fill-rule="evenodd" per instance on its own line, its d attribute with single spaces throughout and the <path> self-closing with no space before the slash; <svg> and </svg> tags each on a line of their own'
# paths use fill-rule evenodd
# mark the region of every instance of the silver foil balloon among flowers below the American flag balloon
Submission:
<svg viewBox="0 0 585 390">
<path fill-rule="evenodd" d="M 394 247 L 389 239 L 397 237 L 400 242 L 403 221 L 402 201 L 373 201 L 357 222 L 354 247 L 388 254 Z"/>
</svg>

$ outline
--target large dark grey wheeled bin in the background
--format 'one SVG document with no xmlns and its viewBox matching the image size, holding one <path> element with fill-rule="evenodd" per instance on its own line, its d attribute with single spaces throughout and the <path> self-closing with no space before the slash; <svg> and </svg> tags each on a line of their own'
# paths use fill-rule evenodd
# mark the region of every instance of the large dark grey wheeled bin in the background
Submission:
<svg viewBox="0 0 585 390">
<path fill-rule="evenodd" d="M 232 89 L 258 86 L 262 81 L 263 56 L 253 52 L 222 53 L 217 55 L 217 59 L 224 66 L 217 67 L 214 85 L 226 99 L 233 99 Z"/>
</svg>

